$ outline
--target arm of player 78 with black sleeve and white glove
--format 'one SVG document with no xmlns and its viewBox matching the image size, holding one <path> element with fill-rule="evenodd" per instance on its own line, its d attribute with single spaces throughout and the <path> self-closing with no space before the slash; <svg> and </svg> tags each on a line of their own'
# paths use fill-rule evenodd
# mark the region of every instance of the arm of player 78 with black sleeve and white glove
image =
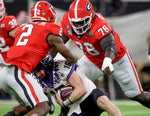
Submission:
<svg viewBox="0 0 150 116">
<path fill-rule="evenodd" d="M 112 33 L 100 40 L 103 51 L 105 52 L 105 58 L 102 65 L 102 71 L 104 71 L 107 76 L 110 76 L 114 71 L 112 61 L 115 59 L 117 54 L 117 48 L 115 45 L 115 39 Z"/>
</svg>

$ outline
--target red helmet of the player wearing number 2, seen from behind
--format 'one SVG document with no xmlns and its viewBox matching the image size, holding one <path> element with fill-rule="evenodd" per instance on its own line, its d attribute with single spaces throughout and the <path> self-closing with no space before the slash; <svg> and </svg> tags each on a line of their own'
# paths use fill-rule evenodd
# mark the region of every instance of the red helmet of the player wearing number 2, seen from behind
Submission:
<svg viewBox="0 0 150 116">
<path fill-rule="evenodd" d="M 36 2 L 31 8 L 31 21 L 44 20 L 54 23 L 56 12 L 54 7 L 47 1 Z"/>
</svg>

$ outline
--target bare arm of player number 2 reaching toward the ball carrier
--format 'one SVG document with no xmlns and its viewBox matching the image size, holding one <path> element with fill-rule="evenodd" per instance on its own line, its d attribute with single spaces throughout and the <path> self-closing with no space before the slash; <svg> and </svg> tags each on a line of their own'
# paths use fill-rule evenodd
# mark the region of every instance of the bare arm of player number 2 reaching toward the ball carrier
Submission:
<svg viewBox="0 0 150 116">
<path fill-rule="evenodd" d="M 48 43 L 53 46 L 57 51 L 70 63 L 76 63 L 78 57 L 73 55 L 71 51 L 64 45 L 63 40 L 56 35 L 50 34 L 48 36 Z"/>
</svg>

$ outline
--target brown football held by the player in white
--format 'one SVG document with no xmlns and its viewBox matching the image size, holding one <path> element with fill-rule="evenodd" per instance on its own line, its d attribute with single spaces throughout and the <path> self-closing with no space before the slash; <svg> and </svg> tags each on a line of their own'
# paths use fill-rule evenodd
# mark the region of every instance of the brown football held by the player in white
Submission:
<svg viewBox="0 0 150 116">
<path fill-rule="evenodd" d="M 64 101 L 67 98 L 69 98 L 69 96 L 72 93 L 72 91 L 73 91 L 73 87 L 72 86 L 65 86 L 65 87 L 62 87 L 62 88 L 60 88 L 58 90 L 58 94 L 61 97 L 61 99 Z"/>
</svg>

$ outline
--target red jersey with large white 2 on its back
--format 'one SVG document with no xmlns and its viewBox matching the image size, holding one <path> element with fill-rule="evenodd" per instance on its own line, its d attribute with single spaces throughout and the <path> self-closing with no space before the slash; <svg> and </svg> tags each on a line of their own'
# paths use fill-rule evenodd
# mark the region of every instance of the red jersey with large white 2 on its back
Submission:
<svg viewBox="0 0 150 116">
<path fill-rule="evenodd" d="M 49 34 L 59 36 L 60 26 L 49 22 L 20 25 L 15 33 L 14 46 L 8 50 L 7 62 L 31 73 L 51 49 L 47 42 Z"/>
</svg>

